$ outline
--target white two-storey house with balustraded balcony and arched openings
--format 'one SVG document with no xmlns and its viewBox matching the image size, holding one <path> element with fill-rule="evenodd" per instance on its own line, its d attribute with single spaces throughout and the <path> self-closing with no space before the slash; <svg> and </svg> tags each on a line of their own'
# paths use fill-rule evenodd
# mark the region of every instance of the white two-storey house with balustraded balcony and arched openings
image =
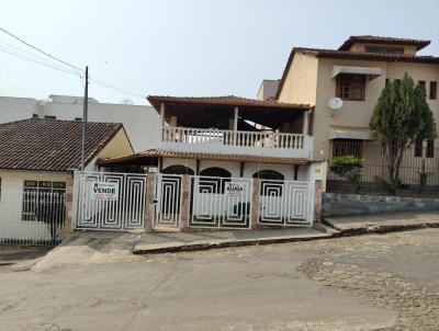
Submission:
<svg viewBox="0 0 439 331">
<path fill-rule="evenodd" d="M 148 174 L 157 178 L 154 227 L 248 229 L 318 219 L 311 105 L 233 95 L 148 101 L 161 118 L 156 148 L 99 166 L 157 172 Z"/>
</svg>

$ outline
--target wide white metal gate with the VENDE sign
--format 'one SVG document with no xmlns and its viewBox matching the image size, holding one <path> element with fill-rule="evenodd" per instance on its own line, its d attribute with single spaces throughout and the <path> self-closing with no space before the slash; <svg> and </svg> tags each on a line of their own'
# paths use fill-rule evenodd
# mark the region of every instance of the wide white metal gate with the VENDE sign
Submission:
<svg viewBox="0 0 439 331">
<path fill-rule="evenodd" d="M 144 227 L 146 174 L 77 172 L 76 229 L 127 231 Z M 106 184 L 110 183 L 110 184 Z M 97 187 L 114 189 L 97 193 Z"/>
</svg>

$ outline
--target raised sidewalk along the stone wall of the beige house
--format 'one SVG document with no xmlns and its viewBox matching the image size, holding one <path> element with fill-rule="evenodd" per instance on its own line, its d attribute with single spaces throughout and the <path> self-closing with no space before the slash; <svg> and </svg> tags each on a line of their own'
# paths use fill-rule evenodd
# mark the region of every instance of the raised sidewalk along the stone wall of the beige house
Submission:
<svg viewBox="0 0 439 331">
<path fill-rule="evenodd" d="M 402 231 L 439 227 L 439 210 L 331 217 L 324 222 L 341 236 Z"/>
</svg>

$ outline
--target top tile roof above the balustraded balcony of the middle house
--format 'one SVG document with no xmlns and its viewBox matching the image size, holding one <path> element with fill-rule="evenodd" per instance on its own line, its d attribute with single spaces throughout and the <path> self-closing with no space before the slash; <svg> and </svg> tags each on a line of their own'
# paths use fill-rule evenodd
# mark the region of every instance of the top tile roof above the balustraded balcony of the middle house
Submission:
<svg viewBox="0 0 439 331">
<path fill-rule="evenodd" d="M 159 112 L 161 102 L 176 102 L 188 104 L 206 104 L 206 105 L 226 105 L 226 106 L 255 106 L 255 107 L 273 107 L 273 109 L 301 109 L 309 110 L 309 104 L 293 104 L 278 101 L 262 101 L 256 99 L 247 99 L 235 95 L 226 96 L 168 96 L 168 95 L 149 95 L 149 103 Z"/>
</svg>

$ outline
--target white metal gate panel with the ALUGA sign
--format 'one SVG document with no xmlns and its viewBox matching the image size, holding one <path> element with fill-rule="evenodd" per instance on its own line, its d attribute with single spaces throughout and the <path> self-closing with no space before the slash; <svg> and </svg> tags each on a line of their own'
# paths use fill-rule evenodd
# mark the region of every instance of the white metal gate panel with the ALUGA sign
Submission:
<svg viewBox="0 0 439 331">
<path fill-rule="evenodd" d="M 252 179 L 192 176 L 190 227 L 250 227 Z"/>
</svg>

